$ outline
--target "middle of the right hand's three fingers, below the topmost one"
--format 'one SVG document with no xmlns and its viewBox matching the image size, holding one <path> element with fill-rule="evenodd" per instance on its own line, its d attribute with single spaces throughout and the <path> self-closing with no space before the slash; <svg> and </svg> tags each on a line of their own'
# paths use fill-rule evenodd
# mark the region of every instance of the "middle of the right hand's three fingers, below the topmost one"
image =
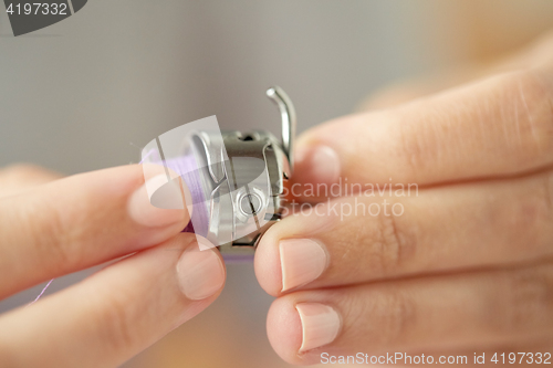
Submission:
<svg viewBox="0 0 553 368">
<path fill-rule="evenodd" d="M 280 295 L 553 255 L 552 171 L 394 193 L 320 203 L 274 224 L 255 252 L 260 285 Z"/>
</svg>

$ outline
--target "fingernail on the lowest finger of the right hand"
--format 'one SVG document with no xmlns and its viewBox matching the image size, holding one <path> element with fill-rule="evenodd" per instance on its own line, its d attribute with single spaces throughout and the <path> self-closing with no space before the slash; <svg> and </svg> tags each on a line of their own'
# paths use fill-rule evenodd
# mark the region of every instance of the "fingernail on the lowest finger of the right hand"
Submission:
<svg viewBox="0 0 553 368">
<path fill-rule="evenodd" d="M 340 316 L 332 307 L 319 303 L 295 306 L 302 320 L 303 339 L 300 353 L 334 341 L 340 330 Z"/>
</svg>

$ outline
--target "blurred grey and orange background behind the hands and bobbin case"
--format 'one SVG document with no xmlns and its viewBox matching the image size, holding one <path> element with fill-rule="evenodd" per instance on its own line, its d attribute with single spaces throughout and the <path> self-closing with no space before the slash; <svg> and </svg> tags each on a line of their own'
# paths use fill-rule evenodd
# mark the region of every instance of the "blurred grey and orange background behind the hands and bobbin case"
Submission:
<svg viewBox="0 0 553 368">
<path fill-rule="evenodd" d="M 551 27 L 551 0 L 90 0 L 19 38 L 2 11 L 0 167 L 71 175 L 137 162 L 154 137 L 210 115 L 278 134 L 273 84 L 304 130 L 389 83 L 487 62 Z M 251 265 L 231 265 L 215 305 L 125 367 L 284 367 L 265 337 L 271 301 Z"/>
</svg>

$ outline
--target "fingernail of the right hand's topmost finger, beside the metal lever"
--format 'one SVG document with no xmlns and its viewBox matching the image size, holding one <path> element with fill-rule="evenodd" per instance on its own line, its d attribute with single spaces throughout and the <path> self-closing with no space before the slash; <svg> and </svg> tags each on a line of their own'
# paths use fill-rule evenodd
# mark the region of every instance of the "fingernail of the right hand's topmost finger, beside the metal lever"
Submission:
<svg viewBox="0 0 553 368">
<path fill-rule="evenodd" d="M 328 146 L 319 145 L 299 149 L 296 164 L 302 168 L 300 174 L 302 182 L 334 183 L 340 178 L 340 157 Z"/>
</svg>

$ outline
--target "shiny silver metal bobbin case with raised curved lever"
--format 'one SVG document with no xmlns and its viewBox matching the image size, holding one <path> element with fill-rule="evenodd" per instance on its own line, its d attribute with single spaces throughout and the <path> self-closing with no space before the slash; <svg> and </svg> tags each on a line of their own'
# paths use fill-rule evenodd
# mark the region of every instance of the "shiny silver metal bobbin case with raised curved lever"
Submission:
<svg viewBox="0 0 553 368">
<path fill-rule="evenodd" d="M 230 260 L 251 257 L 261 235 L 280 221 L 284 188 L 292 176 L 295 109 L 280 87 L 269 88 L 267 95 L 280 109 L 281 139 L 264 130 L 223 132 L 222 147 L 213 147 L 213 139 L 204 132 L 194 139 L 200 145 L 197 151 L 216 156 L 207 157 L 207 162 L 221 161 L 220 149 L 226 150 L 222 180 L 206 186 L 211 206 L 208 231 L 201 235 L 216 244 L 221 244 L 221 239 L 231 239 L 219 245 Z M 217 168 L 209 169 L 212 178 L 219 178 Z"/>
</svg>

